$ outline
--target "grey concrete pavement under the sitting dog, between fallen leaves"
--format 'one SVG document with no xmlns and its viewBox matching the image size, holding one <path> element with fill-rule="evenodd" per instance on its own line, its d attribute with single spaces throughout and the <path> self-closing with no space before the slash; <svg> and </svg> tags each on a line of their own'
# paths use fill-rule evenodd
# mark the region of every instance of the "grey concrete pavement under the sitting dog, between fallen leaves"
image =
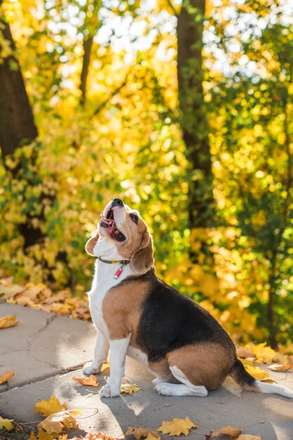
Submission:
<svg viewBox="0 0 293 440">
<path fill-rule="evenodd" d="M 81 365 L 91 359 L 95 343 L 93 325 L 0 304 L 0 317 L 8 314 L 16 315 L 19 324 L 0 330 L 0 373 L 15 370 L 9 389 L 0 385 L 3 417 L 19 422 L 42 420 L 34 413 L 34 403 L 48 400 L 53 394 L 60 401 L 67 401 L 70 409 L 87 408 L 79 420 L 83 435 L 102 430 L 120 436 L 128 426 L 156 429 L 162 420 L 189 417 L 199 425 L 198 432 L 204 434 L 232 425 L 245 429 L 245 433 L 259 434 L 262 440 L 293 440 L 292 400 L 275 394 L 240 392 L 231 379 L 206 398 L 163 397 L 154 392 L 147 370 L 128 359 L 124 382 L 135 383 L 141 390 L 116 399 L 100 399 L 97 388 L 79 385 L 71 379 L 82 375 Z M 278 383 L 293 389 L 293 373 L 273 376 Z M 104 375 L 97 377 L 104 384 Z M 205 437 L 195 432 L 189 434 L 190 440 L 200 438 Z"/>
</svg>

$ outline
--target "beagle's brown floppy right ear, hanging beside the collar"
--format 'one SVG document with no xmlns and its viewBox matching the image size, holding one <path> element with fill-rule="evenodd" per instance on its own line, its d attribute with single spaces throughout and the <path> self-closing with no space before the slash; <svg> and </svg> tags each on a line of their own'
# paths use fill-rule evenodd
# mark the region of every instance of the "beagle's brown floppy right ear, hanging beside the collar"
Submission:
<svg viewBox="0 0 293 440">
<path fill-rule="evenodd" d="M 148 229 L 142 235 L 142 245 L 137 249 L 130 258 L 130 268 L 135 273 L 144 274 L 154 266 L 154 250 L 153 238 Z"/>
</svg>

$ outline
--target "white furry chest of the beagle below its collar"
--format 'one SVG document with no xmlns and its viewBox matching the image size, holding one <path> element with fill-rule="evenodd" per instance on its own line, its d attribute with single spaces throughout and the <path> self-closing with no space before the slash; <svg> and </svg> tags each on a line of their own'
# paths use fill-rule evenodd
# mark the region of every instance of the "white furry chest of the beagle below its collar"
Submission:
<svg viewBox="0 0 293 440">
<path fill-rule="evenodd" d="M 104 337 L 109 339 L 109 332 L 106 323 L 104 322 L 102 306 L 104 297 L 111 287 L 118 285 L 126 277 L 130 276 L 129 265 L 123 266 L 123 271 L 118 278 L 114 278 L 116 271 L 121 264 L 105 264 L 97 261 L 95 264 L 95 276 L 93 285 L 88 293 L 90 314 L 95 324 L 95 328 L 100 330 Z"/>
</svg>

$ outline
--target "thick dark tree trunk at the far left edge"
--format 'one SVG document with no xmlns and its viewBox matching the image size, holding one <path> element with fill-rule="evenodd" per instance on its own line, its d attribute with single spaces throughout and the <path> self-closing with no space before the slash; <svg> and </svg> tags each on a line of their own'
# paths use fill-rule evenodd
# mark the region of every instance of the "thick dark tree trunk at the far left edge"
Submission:
<svg viewBox="0 0 293 440">
<path fill-rule="evenodd" d="M 0 20 L 0 32 L 14 51 L 10 27 L 3 19 Z M 0 60 L 0 84 L 0 148 L 5 157 L 20 145 L 32 142 L 38 136 L 38 131 L 20 65 L 12 55 Z"/>
</svg>

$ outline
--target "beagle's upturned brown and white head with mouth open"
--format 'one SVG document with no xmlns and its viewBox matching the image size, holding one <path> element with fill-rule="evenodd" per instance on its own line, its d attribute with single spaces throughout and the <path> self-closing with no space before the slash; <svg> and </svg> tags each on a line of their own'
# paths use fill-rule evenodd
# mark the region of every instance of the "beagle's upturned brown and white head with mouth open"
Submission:
<svg viewBox="0 0 293 440">
<path fill-rule="evenodd" d="M 139 212 L 114 198 L 105 207 L 94 237 L 86 252 L 104 259 L 130 259 L 134 273 L 142 274 L 154 266 L 153 240 Z M 102 255 L 101 255 L 102 252 Z"/>
</svg>

